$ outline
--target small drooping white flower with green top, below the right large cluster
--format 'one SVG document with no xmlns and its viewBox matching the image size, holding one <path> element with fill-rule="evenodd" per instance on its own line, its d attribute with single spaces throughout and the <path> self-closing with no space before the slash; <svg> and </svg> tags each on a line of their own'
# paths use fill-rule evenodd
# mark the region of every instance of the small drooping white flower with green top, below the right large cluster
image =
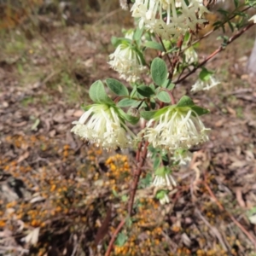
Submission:
<svg viewBox="0 0 256 256">
<path fill-rule="evenodd" d="M 160 167 L 155 172 L 154 182 L 152 183 L 154 187 L 170 187 L 172 189 L 172 185 L 174 187 L 177 186 L 174 178 L 165 167 Z"/>
</svg>

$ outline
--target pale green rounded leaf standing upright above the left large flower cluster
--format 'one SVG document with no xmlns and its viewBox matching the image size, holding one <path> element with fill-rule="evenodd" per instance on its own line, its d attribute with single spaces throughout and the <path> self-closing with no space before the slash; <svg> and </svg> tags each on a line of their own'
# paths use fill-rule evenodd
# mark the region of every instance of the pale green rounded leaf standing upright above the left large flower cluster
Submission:
<svg viewBox="0 0 256 256">
<path fill-rule="evenodd" d="M 89 96 L 93 102 L 114 105 L 113 101 L 108 97 L 101 80 L 97 80 L 90 85 Z"/>
</svg>

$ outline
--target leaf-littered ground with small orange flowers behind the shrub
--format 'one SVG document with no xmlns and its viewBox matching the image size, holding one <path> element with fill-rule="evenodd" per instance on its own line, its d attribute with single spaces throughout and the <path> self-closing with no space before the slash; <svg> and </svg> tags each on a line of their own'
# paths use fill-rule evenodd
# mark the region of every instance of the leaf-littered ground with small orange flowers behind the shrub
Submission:
<svg viewBox="0 0 256 256">
<path fill-rule="evenodd" d="M 1 36 L 0 254 L 95 255 L 103 238 L 103 255 L 125 217 L 132 156 L 107 154 L 70 133 L 90 84 L 118 78 L 107 61 L 122 15 L 98 23 L 106 15 L 94 14 L 94 26 L 51 27 L 32 38 L 14 29 Z M 178 186 L 165 207 L 143 189 L 145 170 L 136 214 L 113 255 L 255 255 L 243 232 L 255 239 L 248 217 L 256 212 L 256 90 L 244 71 L 253 33 L 208 64 L 222 84 L 193 96 L 211 110 L 203 117 L 211 141 L 173 174 Z M 202 44 L 201 58 L 215 45 L 214 38 Z M 177 96 L 191 80 L 178 86 Z M 29 247 L 20 239 L 37 227 L 38 244 Z"/>
</svg>

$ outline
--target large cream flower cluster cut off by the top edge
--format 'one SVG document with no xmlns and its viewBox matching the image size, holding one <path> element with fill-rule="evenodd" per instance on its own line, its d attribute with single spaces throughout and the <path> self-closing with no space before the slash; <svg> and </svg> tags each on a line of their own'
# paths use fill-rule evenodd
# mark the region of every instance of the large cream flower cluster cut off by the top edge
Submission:
<svg viewBox="0 0 256 256">
<path fill-rule="evenodd" d="M 139 27 L 145 26 L 162 39 L 178 38 L 185 32 L 195 31 L 198 24 L 207 20 L 208 12 L 201 0 L 136 0 L 131 7 L 132 16 L 139 19 Z"/>
</svg>

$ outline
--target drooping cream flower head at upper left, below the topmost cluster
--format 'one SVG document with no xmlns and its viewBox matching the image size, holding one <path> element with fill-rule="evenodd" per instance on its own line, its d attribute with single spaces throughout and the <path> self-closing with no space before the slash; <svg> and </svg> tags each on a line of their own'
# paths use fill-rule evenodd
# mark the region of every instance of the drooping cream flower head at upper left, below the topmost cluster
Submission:
<svg viewBox="0 0 256 256">
<path fill-rule="evenodd" d="M 119 44 L 113 54 L 109 55 L 108 64 L 119 73 L 120 79 L 136 82 L 147 67 L 143 66 L 141 55 L 129 44 Z"/>
</svg>

